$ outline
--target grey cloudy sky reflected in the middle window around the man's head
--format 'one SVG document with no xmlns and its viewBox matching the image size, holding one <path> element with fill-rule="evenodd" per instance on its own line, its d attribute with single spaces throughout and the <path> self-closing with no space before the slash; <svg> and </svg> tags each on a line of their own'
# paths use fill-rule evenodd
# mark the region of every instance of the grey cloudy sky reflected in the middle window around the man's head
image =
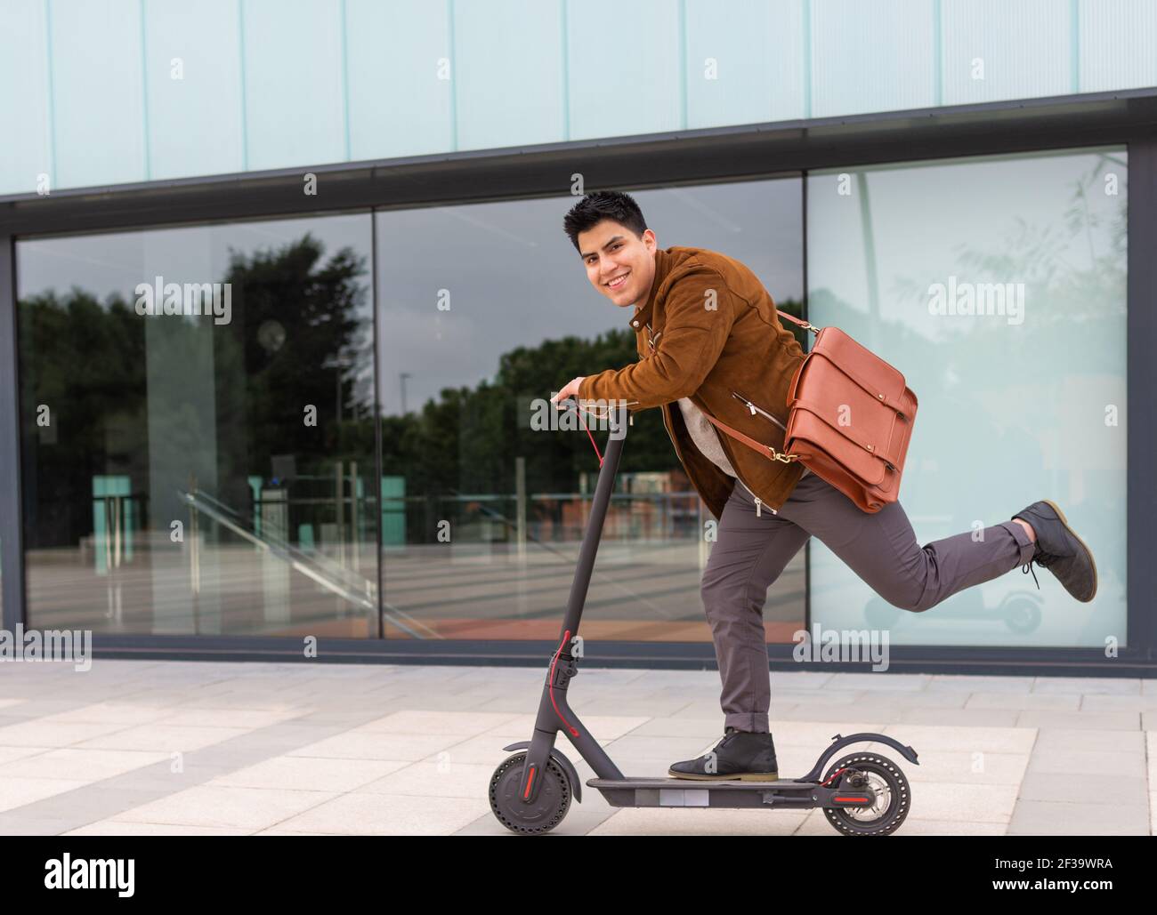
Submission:
<svg viewBox="0 0 1157 915">
<path fill-rule="evenodd" d="M 632 192 L 659 247 L 720 251 L 779 302 L 803 289 L 798 179 Z M 499 356 L 547 339 L 625 329 L 587 280 L 562 218 L 577 198 L 385 211 L 377 216 L 382 409 L 398 414 L 443 387 L 493 378 Z M 449 291 L 439 311 L 440 290 Z M 612 366 L 592 365 L 592 374 Z M 563 384 L 569 379 L 559 379 Z M 544 392 L 544 396 L 547 394 Z"/>
</svg>

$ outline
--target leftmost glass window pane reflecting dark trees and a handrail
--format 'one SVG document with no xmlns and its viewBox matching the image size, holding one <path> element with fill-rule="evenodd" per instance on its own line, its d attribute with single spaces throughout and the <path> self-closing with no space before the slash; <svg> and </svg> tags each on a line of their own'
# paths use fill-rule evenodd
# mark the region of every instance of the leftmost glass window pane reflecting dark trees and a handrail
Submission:
<svg viewBox="0 0 1157 915">
<path fill-rule="evenodd" d="M 17 243 L 32 625 L 377 635 L 370 235 Z"/>
</svg>

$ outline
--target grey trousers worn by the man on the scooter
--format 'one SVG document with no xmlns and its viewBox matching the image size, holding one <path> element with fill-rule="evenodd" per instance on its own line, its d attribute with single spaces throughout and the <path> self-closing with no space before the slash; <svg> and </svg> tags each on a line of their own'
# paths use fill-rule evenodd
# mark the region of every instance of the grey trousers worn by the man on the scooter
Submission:
<svg viewBox="0 0 1157 915">
<path fill-rule="evenodd" d="M 958 590 L 1030 561 L 1036 550 L 1016 521 L 921 546 L 898 501 L 875 514 L 815 474 L 802 477 L 779 512 L 760 506 L 739 481 L 723 508 L 700 593 L 715 641 L 724 727 L 767 731 L 771 672 L 764 631 L 767 588 L 815 534 L 872 590 L 921 612 Z"/>
</svg>

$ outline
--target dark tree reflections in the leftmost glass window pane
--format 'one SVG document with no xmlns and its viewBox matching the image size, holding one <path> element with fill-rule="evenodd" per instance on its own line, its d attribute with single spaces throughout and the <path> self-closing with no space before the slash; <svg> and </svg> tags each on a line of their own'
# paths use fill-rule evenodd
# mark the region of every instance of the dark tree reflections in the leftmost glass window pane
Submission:
<svg viewBox="0 0 1157 915">
<path fill-rule="evenodd" d="M 371 474 L 373 388 L 356 380 L 373 365 L 373 319 L 358 278 L 366 258 L 349 248 L 323 254 L 310 235 L 277 251 L 230 252 L 216 281 L 233 284 L 228 325 L 138 315 L 134 298 L 115 293 L 102 305 L 78 288 L 21 299 L 25 467 L 37 481 L 29 545 L 71 544 L 91 531 L 96 475 L 130 475 L 133 492 L 147 493 L 150 439 L 154 447 L 164 440 L 165 454 L 187 455 L 187 471 L 165 468 L 182 484 L 200 461 L 215 461 L 214 494 L 241 508 L 250 503 L 246 477 L 268 479 L 275 455 L 294 455 L 299 475 L 332 479 L 338 460 Z M 149 321 L 164 323 L 147 333 Z M 324 369 L 327 362 L 347 367 Z M 164 409 L 150 411 L 148 380 L 157 371 L 177 384 L 161 395 Z M 201 394 L 174 399 L 180 384 L 209 386 L 215 429 L 201 425 L 209 418 L 194 406 Z M 54 441 L 36 425 L 42 403 L 52 409 Z M 317 407 L 316 427 L 303 422 L 307 404 Z M 204 468 L 197 475 L 209 476 Z"/>
</svg>

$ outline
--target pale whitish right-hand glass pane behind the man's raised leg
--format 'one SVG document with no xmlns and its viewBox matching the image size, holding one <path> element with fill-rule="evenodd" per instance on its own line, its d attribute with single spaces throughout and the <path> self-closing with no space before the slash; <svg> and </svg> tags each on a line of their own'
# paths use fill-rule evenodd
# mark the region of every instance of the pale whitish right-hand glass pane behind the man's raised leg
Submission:
<svg viewBox="0 0 1157 915">
<path fill-rule="evenodd" d="M 1105 193 L 1106 173 L 1117 195 Z M 1123 644 L 1125 150 L 852 171 L 846 196 L 839 174 L 809 178 L 809 317 L 898 367 L 919 397 L 900 491 L 918 542 L 992 527 L 1049 498 L 1092 550 L 1099 589 L 1079 604 L 1046 570 L 1039 592 L 1015 570 L 914 615 L 882 605 L 813 540 L 815 619 L 889 628 L 893 644 L 1091 647 L 1106 634 Z M 1023 322 L 930 313 L 929 285 L 950 277 L 1023 284 Z"/>
</svg>

